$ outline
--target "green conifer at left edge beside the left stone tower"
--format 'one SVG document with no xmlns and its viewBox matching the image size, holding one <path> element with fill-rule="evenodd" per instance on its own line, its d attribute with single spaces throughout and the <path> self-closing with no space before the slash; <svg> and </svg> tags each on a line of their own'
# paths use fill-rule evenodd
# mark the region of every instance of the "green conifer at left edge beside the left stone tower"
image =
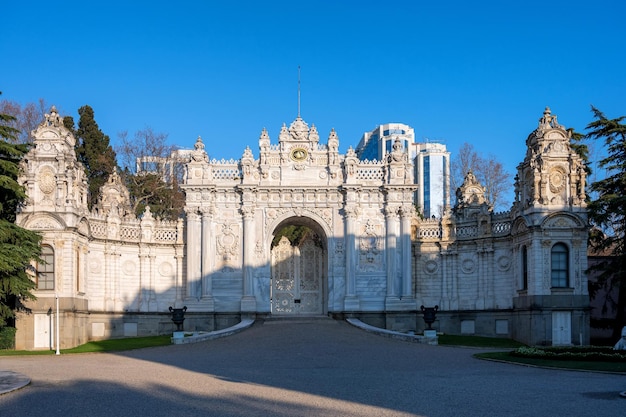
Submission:
<svg viewBox="0 0 626 417">
<path fill-rule="evenodd" d="M 0 113 L 0 328 L 14 326 L 15 311 L 25 310 L 22 302 L 35 298 L 27 270 L 41 252 L 40 236 L 14 223 L 26 198 L 17 182 L 19 163 L 29 149 L 16 144 L 19 131 L 11 126 L 14 122 L 15 117 Z"/>
</svg>

